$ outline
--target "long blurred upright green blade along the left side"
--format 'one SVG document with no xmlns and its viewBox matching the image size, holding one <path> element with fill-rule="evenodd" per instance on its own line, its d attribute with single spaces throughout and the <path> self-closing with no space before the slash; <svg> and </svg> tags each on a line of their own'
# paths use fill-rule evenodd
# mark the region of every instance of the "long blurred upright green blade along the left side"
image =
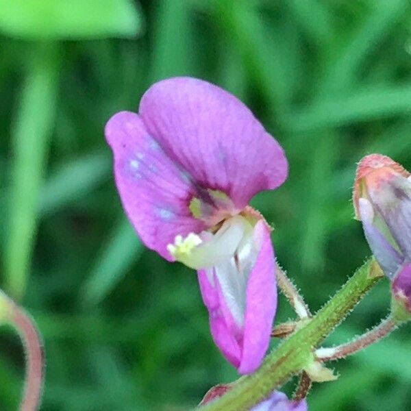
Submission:
<svg viewBox="0 0 411 411">
<path fill-rule="evenodd" d="M 12 132 L 13 168 L 10 189 L 10 226 L 5 247 L 5 283 L 10 295 L 21 299 L 37 227 L 38 196 L 42 184 L 58 95 L 58 45 L 34 43 L 27 77 Z"/>
</svg>

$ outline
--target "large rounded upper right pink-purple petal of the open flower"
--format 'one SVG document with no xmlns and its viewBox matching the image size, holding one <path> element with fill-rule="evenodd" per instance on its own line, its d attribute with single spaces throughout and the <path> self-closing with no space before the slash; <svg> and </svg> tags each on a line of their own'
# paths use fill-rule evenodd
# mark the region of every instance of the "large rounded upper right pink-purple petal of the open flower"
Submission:
<svg viewBox="0 0 411 411">
<path fill-rule="evenodd" d="M 284 182 L 282 147 L 236 97 L 208 82 L 175 77 L 140 102 L 149 133 L 203 188 L 222 190 L 238 208 Z"/>
</svg>

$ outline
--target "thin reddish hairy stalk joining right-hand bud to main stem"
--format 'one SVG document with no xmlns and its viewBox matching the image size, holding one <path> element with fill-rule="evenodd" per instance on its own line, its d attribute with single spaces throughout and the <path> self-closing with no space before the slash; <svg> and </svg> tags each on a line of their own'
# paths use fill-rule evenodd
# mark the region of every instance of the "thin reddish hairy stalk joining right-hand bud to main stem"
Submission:
<svg viewBox="0 0 411 411">
<path fill-rule="evenodd" d="M 330 348 L 320 348 L 315 351 L 315 356 L 321 362 L 338 360 L 351 356 L 373 343 L 382 340 L 382 338 L 388 336 L 397 328 L 398 324 L 394 319 L 389 316 L 388 319 L 383 320 L 377 327 L 371 329 L 371 331 L 363 334 L 351 343 L 338 345 Z"/>
</svg>

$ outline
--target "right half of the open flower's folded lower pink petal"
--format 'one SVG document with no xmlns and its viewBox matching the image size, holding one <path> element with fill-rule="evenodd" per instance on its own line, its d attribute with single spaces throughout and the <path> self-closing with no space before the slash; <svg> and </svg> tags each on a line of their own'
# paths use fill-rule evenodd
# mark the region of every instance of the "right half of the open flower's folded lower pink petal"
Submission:
<svg viewBox="0 0 411 411">
<path fill-rule="evenodd" d="M 277 310 L 274 249 L 269 227 L 264 221 L 258 221 L 254 238 L 260 242 L 261 249 L 247 284 L 244 340 L 238 368 L 242 374 L 252 373 L 260 366 L 269 348 Z"/>
</svg>

